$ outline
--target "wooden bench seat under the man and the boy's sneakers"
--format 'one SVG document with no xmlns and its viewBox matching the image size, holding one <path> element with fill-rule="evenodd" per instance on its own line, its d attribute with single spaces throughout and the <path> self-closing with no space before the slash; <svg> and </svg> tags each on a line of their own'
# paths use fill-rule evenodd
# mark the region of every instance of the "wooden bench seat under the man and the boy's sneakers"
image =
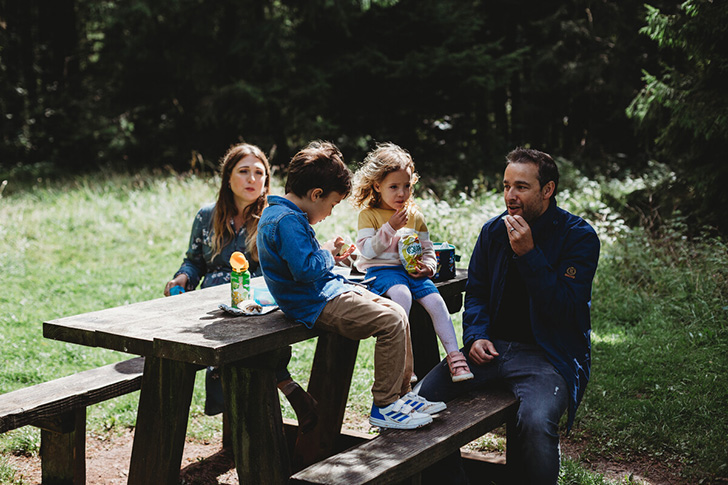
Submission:
<svg viewBox="0 0 728 485">
<path fill-rule="evenodd" d="M 505 390 L 460 396 L 418 430 L 383 429 L 379 436 L 317 462 L 291 483 L 387 484 L 415 477 L 461 446 L 511 421 L 518 403 Z"/>
</svg>

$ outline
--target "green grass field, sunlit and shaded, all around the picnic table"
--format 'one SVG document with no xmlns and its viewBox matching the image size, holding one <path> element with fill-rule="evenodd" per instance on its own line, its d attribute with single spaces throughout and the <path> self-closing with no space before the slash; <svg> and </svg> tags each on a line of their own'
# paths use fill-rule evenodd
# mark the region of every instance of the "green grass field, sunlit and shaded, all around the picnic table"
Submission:
<svg viewBox="0 0 728 485">
<path fill-rule="evenodd" d="M 42 322 L 161 297 L 181 263 L 192 218 L 214 200 L 217 183 L 175 173 L 102 173 L 22 189 L 11 180 L 0 192 L 0 393 L 126 358 L 46 340 Z M 602 202 L 597 182 L 572 174 L 562 185 L 560 205 L 584 215 L 602 240 L 593 376 L 570 439 L 584 443 L 584 460 L 650 457 L 680 470 L 686 483 L 728 479 L 725 243 L 687 240 L 678 223 L 648 236 Z M 274 192 L 280 191 L 279 182 Z M 500 194 L 488 191 L 418 203 L 433 239 L 458 248 L 460 266 L 467 265 L 480 226 L 502 207 Z M 342 203 L 316 231 L 321 240 L 353 237 L 355 224 L 354 210 Z M 459 335 L 460 316 L 454 319 Z M 347 407 L 352 422 L 364 420 L 371 404 L 372 344 L 360 347 Z M 294 346 L 290 369 L 303 383 L 313 349 L 312 341 Z M 204 416 L 203 398 L 200 374 L 189 424 L 199 437 L 220 428 L 219 417 Z M 137 399 L 135 393 L 92 407 L 89 429 L 133 426 Z M 282 406 L 294 417 L 285 400 Z M 3 456 L 38 447 L 39 433 L 30 427 L 1 435 L 0 483 L 21 483 Z M 569 460 L 560 483 L 607 482 Z"/>
</svg>

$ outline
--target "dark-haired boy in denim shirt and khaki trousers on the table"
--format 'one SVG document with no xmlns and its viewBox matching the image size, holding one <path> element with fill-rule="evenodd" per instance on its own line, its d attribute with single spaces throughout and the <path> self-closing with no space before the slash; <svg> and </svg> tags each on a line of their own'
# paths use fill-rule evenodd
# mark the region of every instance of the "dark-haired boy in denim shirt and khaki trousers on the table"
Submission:
<svg viewBox="0 0 728 485">
<path fill-rule="evenodd" d="M 414 429 L 445 409 L 410 392 L 412 350 L 404 310 L 363 288 L 349 285 L 332 269 L 343 238 L 320 246 L 311 227 L 349 195 L 351 172 L 339 149 L 312 142 L 288 166 L 286 195 L 268 196 L 258 223 L 258 256 L 268 289 L 283 312 L 308 328 L 353 340 L 377 338 L 374 404 L 369 422 L 381 428 Z"/>
</svg>

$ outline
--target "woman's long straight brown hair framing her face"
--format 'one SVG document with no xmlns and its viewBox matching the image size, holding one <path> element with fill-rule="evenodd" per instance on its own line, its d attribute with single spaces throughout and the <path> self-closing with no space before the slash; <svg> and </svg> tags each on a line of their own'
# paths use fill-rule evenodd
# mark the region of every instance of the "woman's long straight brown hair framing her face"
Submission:
<svg viewBox="0 0 728 485">
<path fill-rule="evenodd" d="M 235 232 L 230 225 L 230 219 L 235 217 L 238 212 L 238 208 L 235 205 L 235 197 L 233 191 L 230 189 L 230 175 L 233 172 L 235 165 L 247 155 L 253 155 L 255 158 L 260 160 L 265 167 L 265 183 L 263 184 L 263 191 L 260 197 L 245 208 L 243 211 L 243 217 L 245 220 L 245 247 L 248 250 L 248 254 L 253 260 L 258 261 L 258 244 L 256 243 L 256 236 L 258 235 L 258 220 L 260 214 L 265 209 L 266 196 L 270 193 L 270 165 L 268 164 L 268 158 L 266 158 L 263 151 L 255 145 L 248 143 L 240 143 L 233 145 L 227 151 L 222 161 L 220 162 L 220 175 L 222 180 L 220 181 L 220 192 L 217 195 L 217 203 L 215 204 L 215 213 L 212 216 L 212 249 L 213 258 L 220 254 L 223 246 L 229 241 L 235 238 Z"/>
</svg>

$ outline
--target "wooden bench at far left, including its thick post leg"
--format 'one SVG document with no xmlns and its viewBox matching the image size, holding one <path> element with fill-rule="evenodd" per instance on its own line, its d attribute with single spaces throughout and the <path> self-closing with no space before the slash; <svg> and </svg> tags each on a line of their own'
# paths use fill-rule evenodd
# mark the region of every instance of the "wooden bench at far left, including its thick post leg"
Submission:
<svg viewBox="0 0 728 485">
<path fill-rule="evenodd" d="M 0 433 L 41 429 L 43 483 L 86 483 L 86 408 L 141 388 L 144 358 L 79 372 L 0 395 Z"/>
</svg>

